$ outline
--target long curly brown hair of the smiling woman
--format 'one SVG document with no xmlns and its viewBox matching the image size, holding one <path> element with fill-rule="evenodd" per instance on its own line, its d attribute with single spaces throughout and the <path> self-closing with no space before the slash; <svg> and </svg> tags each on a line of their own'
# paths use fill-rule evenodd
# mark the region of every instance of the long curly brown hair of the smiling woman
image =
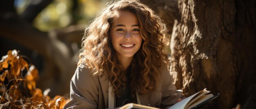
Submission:
<svg viewBox="0 0 256 109">
<path fill-rule="evenodd" d="M 132 59 L 129 70 L 131 94 L 134 97 L 136 90 L 139 94 L 150 93 L 158 81 L 158 68 L 169 64 L 168 57 L 164 53 L 167 29 L 152 9 L 137 0 L 110 2 L 106 8 L 97 13 L 85 29 L 78 65 L 81 63 L 87 65 L 92 69 L 94 76 L 107 74 L 115 94 L 119 95 L 124 89 L 127 78 L 122 73 L 123 66 L 117 59 L 109 35 L 117 11 L 134 13 L 140 25 L 142 43 Z"/>
</svg>

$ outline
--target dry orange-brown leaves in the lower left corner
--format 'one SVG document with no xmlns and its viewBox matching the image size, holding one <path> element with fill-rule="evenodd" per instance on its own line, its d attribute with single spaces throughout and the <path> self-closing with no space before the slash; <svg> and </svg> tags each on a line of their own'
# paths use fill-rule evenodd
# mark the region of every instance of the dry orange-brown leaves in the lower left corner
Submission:
<svg viewBox="0 0 256 109">
<path fill-rule="evenodd" d="M 25 58 L 17 50 L 9 50 L 0 60 L 0 109 L 63 109 L 63 96 L 52 99 L 49 89 L 36 88 L 38 70 Z"/>
</svg>

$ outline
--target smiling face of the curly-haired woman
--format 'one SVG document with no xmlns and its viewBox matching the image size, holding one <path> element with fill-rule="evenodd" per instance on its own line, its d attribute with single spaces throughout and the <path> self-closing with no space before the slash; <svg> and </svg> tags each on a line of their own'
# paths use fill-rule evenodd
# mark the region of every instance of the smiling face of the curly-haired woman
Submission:
<svg viewBox="0 0 256 109">
<path fill-rule="evenodd" d="M 130 11 L 118 11 L 110 27 L 110 36 L 117 57 L 133 57 L 141 46 L 140 26 L 136 15 Z"/>
</svg>

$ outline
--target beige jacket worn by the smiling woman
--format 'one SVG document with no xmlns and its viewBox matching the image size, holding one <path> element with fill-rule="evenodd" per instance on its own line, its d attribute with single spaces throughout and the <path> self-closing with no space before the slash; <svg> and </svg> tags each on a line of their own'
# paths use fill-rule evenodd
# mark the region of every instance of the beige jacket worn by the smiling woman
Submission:
<svg viewBox="0 0 256 109">
<path fill-rule="evenodd" d="M 164 66 L 164 65 L 162 65 Z M 156 83 L 155 90 L 151 94 L 137 94 L 137 103 L 158 108 L 168 108 L 182 98 L 177 93 L 172 83 L 171 75 L 166 67 L 159 69 L 160 78 Z M 79 65 L 70 83 L 70 102 L 64 109 L 106 109 L 113 106 L 115 97 L 109 94 L 112 87 L 109 87 L 106 76 L 91 76 L 91 70 Z M 114 101 L 112 103 L 112 101 Z M 110 104 L 110 105 L 109 105 Z"/>
</svg>

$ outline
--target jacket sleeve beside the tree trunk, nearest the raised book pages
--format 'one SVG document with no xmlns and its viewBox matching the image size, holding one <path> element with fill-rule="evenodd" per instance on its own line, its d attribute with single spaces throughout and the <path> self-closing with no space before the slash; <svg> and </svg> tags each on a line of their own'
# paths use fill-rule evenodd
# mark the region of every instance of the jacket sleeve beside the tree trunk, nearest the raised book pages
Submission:
<svg viewBox="0 0 256 109">
<path fill-rule="evenodd" d="M 168 109 L 175 103 L 179 98 L 184 98 L 181 92 L 177 92 L 175 85 L 173 84 L 173 78 L 168 70 L 168 68 L 162 69 L 163 72 L 163 82 L 162 82 L 162 102 L 161 109 Z"/>
</svg>

